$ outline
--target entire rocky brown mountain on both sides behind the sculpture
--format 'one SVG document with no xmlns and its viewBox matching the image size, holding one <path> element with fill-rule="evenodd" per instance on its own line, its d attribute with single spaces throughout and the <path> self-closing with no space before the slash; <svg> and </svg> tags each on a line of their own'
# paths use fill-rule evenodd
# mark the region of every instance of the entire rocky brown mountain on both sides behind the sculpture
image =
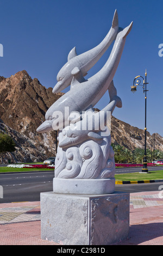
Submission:
<svg viewBox="0 0 163 256">
<path fill-rule="evenodd" d="M 12 153 L 12 157 L 17 161 L 41 161 L 55 155 L 55 131 L 38 134 L 36 129 L 45 120 L 47 109 L 61 95 L 53 94 L 52 88 L 42 86 L 37 78 L 32 79 L 25 70 L 9 78 L 0 76 L 0 118 L 3 120 L 3 123 L 0 122 L 0 131 L 5 127 L 14 137 L 17 150 Z M 112 143 L 133 149 L 135 134 L 142 138 L 135 139 L 135 147 L 143 148 L 144 130 L 111 118 Z M 151 138 L 152 135 L 147 132 L 149 149 Z M 155 134 L 155 149 L 163 151 L 163 138 L 158 133 Z"/>
</svg>

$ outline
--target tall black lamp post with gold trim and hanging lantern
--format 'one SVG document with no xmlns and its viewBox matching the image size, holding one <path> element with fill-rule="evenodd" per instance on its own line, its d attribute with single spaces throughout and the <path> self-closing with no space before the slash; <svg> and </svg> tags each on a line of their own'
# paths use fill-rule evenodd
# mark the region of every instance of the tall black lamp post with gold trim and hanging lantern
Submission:
<svg viewBox="0 0 163 256">
<path fill-rule="evenodd" d="M 146 78 L 144 79 L 142 76 L 136 76 L 134 78 L 133 86 L 131 86 L 131 92 L 135 93 L 136 92 L 136 87 L 137 86 L 142 86 L 143 88 L 143 94 L 145 94 L 145 154 L 143 157 L 143 168 L 142 172 L 143 173 L 148 173 L 148 168 L 147 168 L 147 71 L 145 73 Z M 138 79 L 137 79 L 138 78 Z M 143 79 L 143 85 L 141 84 L 141 78 Z"/>
</svg>

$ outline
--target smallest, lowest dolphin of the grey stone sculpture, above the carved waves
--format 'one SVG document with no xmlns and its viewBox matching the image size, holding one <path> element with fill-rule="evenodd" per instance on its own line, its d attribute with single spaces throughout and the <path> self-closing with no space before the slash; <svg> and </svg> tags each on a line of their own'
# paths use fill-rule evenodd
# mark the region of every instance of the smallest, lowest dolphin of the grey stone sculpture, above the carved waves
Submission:
<svg viewBox="0 0 163 256">
<path fill-rule="evenodd" d="M 64 138 L 59 142 L 60 148 L 68 148 L 74 145 L 80 144 L 87 139 L 93 139 L 95 141 L 101 140 L 102 136 L 99 135 L 99 131 L 106 126 L 107 112 L 110 111 L 111 114 L 115 107 L 122 107 L 122 101 L 120 97 L 117 96 L 117 90 L 114 87 L 113 81 L 109 86 L 110 102 L 102 109 L 100 112 L 87 111 L 83 120 L 78 121 L 75 125 L 70 125 L 66 127 L 62 133 L 65 135 Z M 103 112 L 102 118 L 101 113 Z M 89 127 L 89 121 L 91 122 L 92 129 L 84 129 L 85 123 Z M 84 124 L 83 124 L 84 123 Z M 106 127 L 105 127 L 106 129 Z"/>
</svg>

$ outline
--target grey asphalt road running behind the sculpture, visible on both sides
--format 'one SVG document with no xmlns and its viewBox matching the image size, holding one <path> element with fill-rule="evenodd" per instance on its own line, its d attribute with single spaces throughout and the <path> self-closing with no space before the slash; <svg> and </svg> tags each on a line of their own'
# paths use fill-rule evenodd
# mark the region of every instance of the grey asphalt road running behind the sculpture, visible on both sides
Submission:
<svg viewBox="0 0 163 256">
<path fill-rule="evenodd" d="M 136 168 L 136 172 L 141 171 L 138 169 L 139 168 Z M 120 171 L 122 171 L 122 169 L 117 169 L 116 173 Z M 126 170 L 123 169 L 123 172 L 125 171 Z M 132 172 L 133 171 L 134 169 Z M 49 172 L 47 170 L 45 172 L 1 173 L 0 185 L 3 187 L 3 198 L 0 198 L 0 203 L 40 201 L 41 192 L 53 191 L 53 178 L 54 172 Z M 163 182 L 116 185 L 115 190 L 129 193 L 159 191 L 159 186 L 161 185 L 163 185 Z"/>
</svg>

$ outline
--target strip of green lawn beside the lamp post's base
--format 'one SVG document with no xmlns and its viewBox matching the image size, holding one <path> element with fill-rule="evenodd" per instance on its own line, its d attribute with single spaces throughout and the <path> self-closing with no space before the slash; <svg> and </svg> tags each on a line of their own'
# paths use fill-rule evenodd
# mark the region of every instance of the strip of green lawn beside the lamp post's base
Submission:
<svg viewBox="0 0 163 256">
<path fill-rule="evenodd" d="M 115 174 L 116 181 L 138 181 L 138 180 L 162 180 L 163 179 L 163 170 L 154 170 L 151 173 L 124 173 L 124 174 Z"/>
</svg>

